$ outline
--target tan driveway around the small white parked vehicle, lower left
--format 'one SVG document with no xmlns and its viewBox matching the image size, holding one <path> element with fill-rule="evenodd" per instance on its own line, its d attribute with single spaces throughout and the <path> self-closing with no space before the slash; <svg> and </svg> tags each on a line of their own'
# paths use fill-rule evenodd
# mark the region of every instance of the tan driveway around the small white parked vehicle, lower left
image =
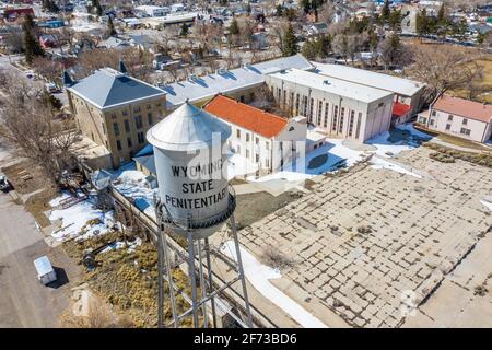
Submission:
<svg viewBox="0 0 492 350">
<path fill-rule="evenodd" d="M 50 248 L 33 217 L 0 192 L 0 327 L 57 327 L 80 269 L 61 247 Z M 44 287 L 33 260 L 47 255 L 58 282 Z"/>
</svg>

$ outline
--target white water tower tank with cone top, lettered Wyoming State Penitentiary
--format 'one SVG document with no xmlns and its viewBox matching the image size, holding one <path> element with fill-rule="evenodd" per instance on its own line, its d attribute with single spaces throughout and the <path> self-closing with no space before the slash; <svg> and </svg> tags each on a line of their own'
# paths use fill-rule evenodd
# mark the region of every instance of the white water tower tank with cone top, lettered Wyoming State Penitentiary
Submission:
<svg viewBox="0 0 492 350">
<path fill-rule="evenodd" d="M 147 132 L 164 222 L 176 233 L 209 236 L 234 211 L 224 147 L 230 136 L 229 125 L 188 102 Z"/>
</svg>

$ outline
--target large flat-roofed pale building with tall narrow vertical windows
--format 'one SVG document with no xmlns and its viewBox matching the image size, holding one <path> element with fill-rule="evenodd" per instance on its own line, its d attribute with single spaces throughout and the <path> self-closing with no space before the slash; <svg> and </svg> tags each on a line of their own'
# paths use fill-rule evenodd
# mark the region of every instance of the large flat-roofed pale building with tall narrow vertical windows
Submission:
<svg viewBox="0 0 492 350">
<path fill-rule="evenodd" d="M 276 101 L 328 135 L 364 142 L 389 129 L 394 93 L 298 69 L 268 74 Z"/>
</svg>

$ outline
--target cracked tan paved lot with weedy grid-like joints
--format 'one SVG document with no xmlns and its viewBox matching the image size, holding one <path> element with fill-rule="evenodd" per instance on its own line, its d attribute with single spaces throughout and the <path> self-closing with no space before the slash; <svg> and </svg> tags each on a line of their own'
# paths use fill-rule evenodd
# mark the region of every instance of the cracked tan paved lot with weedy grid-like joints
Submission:
<svg viewBox="0 0 492 350">
<path fill-rule="evenodd" d="M 480 203 L 492 195 L 490 168 L 437 163 L 429 152 L 420 148 L 397 159 L 422 178 L 371 166 L 323 178 L 312 194 L 243 230 L 242 243 L 257 256 L 273 246 L 292 258 L 283 281 L 272 282 L 315 315 L 335 312 L 351 326 L 399 327 L 447 273 L 475 256 L 492 225 Z M 492 247 L 473 254 L 487 259 Z"/>
</svg>

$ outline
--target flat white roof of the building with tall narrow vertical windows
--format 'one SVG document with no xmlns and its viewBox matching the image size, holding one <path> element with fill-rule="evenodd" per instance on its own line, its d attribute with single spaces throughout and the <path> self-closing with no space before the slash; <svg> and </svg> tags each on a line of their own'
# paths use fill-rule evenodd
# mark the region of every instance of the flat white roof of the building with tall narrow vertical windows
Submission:
<svg viewBox="0 0 492 350">
<path fill-rule="evenodd" d="M 271 74 L 270 77 L 365 103 L 371 103 L 393 94 L 380 89 L 353 83 L 347 80 L 328 78 L 298 69 L 281 71 Z"/>
</svg>

